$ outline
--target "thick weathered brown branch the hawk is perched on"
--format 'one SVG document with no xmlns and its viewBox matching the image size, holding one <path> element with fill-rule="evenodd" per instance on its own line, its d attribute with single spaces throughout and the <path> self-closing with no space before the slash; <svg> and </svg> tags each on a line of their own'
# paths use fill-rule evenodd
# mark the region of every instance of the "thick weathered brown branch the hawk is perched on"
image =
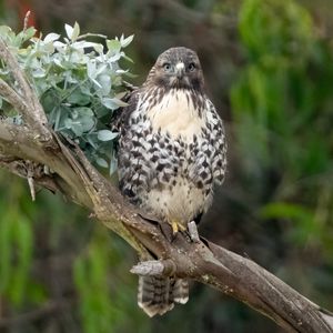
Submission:
<svg viewBox="0 0 333 333">
<path fill-rule="evenodd" d="M 153 253 L 160 260 L 158 263 L 150 262 L 144 270 L 144 264 L 141 269 L 139 265 L 135 273 L 172 273 L 193 279 L 242 301 L 291 332 L 333 332 L 330 312 L 251 260 L 202 239 L 192 242 L 183 233 L 178 233 L 170 241 L 169 225 L 160 224 L 129 204 L 77 145 L 65 144 L 48 128 L 37 97 L 1 40 L 0 56 L 16 77 L 21 98 L 16 97 L 18 91 L 13 94 L 10 89 L 0 90 L 0 94 L 27 119 L 24 125 L 0 121 L 0 165 L 62 192 L 92 211 L 107 228 L 128 241 L 141 258 L 151 260 Z M 2 87 L 6 87 L 3 82 Z M 9 97 L 9 92 L 13 98 Z M 44 165 L 52 172 L 46 172 Z M 30 168 L 30 173 L 27 168 Z"/>
</svg>

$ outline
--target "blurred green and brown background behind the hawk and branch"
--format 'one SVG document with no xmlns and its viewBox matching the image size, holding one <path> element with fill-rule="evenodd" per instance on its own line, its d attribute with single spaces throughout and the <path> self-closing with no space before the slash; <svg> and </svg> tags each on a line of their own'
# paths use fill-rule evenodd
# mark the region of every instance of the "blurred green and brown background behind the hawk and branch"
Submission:
<svg viewBox="0 0 333 333">
<path fill-rule="evenodd" d="M 229 174 L 200 226 L 333 310 L 333 2 L 330 0 L 0 0 L 44 33 L 134 33 L 140 84 L 172 46 L 198 51 L 225 120 Z M 163 317 L 137 306 L 135 253 L 89 212 L 0 173 L 0 332 L 282 332 L 206 286 Z"/>
</svg>

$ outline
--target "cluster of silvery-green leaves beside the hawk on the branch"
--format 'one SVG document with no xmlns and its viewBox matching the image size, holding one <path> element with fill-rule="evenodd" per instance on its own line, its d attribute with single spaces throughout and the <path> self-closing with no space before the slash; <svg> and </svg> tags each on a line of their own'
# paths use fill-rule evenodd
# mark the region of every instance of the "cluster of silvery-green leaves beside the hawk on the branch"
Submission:
<svg viewBox="0 0 333 333">
<path fill-rule="evenodd" d="M 34 88 L 56 131 L 80 144 L 90 161 L 114 171 L 111 132 L 112 112 L 125 105 L 121 100 L 123 75 L 120 67 L 123 52 L 133 36 L 108 40 L 104 36 L 80 34 L 80 27 L 65 24 L 65 37 L 49 33 L 36 37 L 33 28 L 16 34 L 9 27 L 0 27 L 0 36 L 18 58 Z M 101 40 L 103 43 L 95 42 Z M 0 62 L 0 77 L 16 87 L 6 63 Z M 21 121 L 20 114 L 0 99 L 0 114 Z"/>
</svg>

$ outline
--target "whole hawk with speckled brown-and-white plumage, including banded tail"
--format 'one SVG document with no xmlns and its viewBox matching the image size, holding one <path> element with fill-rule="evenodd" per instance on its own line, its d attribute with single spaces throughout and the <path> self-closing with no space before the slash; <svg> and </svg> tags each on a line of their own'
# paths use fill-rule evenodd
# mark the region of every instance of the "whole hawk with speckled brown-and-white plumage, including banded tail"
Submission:
<svg viewBox="0 0 333 333">
<path fill-rule="evenodd" d="M 160 54 L 119 124 L 123 195 L 170 223 L 173 233 L 198 223 L 212 202 L 214 184 L 223 182 L 226 143 L 222 120 L 204 92 L 196 53 L 171 48 Z M 139 278 L 138 303 L 150 316 L 188 299 L 186 280 Z"/>
</svg>

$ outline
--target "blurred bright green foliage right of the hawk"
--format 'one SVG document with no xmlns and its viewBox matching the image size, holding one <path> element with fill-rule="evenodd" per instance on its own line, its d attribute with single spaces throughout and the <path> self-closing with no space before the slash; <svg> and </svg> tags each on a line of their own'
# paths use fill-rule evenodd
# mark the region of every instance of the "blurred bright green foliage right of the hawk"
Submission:
<svg viewBox="0 0 333 333">
<path fill-rule="evenodd" d="M 248 64 L 231 101 L 243 175 L 262 193 L 260 215 L 286 220 L 292 244 L 325 251 L 333 231 L 333 59 L 314 32 L 309 12 L 293 1 L 245 1 L 240 36 Z"/>
</svg>

